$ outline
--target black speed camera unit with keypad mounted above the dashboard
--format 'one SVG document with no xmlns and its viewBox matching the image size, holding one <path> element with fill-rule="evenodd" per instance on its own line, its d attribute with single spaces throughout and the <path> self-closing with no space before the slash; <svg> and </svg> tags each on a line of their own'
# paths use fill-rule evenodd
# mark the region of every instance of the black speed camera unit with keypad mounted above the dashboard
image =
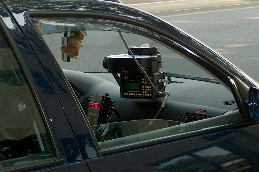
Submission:
<svg viewBox="0 0 259 172">
<path fill-rule="evenodd" d="M 156 89 L 161 90 L 162 84 L 159 83 L 159 79 L 164 79 L 165 74 L 159 71 L 163 61 L 161 54 L 157 52 L 157 48 L 129 48 Z M 103 67 L 108 69 L 109 73 L 120 74 L 119 82 L 117 82 L 120 85 L 121 98 L 156 99 L 160 97 L 131 55 L 117 54 L 107 56 L 103 59 Z"/>
</svg>

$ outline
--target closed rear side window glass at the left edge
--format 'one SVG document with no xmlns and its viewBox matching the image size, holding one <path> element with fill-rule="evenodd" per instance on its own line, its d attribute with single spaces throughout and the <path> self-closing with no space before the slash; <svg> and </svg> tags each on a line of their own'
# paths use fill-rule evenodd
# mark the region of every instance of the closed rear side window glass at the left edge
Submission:
<svg viewBox="0 0 259 172">
<path fill-rule="evenodd" d="M 49 134 L 13 51 L 0 36 L 0 171 L 55 157 Z"/>
</svg>

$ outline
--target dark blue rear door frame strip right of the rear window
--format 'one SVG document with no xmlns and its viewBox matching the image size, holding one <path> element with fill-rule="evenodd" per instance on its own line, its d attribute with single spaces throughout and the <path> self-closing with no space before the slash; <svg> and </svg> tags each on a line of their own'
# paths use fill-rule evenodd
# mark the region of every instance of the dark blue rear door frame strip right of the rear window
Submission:
<svg viewBox="0 0 259 172">
<path fill-rule="evenodd" d="M 87 171 L 88 168 L 83 161 L 83 157 L 77 145 L 77 140 L 75 139 L 71 128 L 67 127 L 70 126 L 69 122 L 67 121 L 63 107 L 60 104 L 49 78 L 43 70 L 41 63 L 37 60 L 37 57 L 23 33 L 19 27 L 16 26 L 15 21 L 12 20 L 10 15 L 6 14 L 7 12 L 4 11 L 4 7 L 2 6 L 1 18 L 4 20 L 5 24 L 9 26 L 8 28 L 3 26 L 7 36 L 9 37 L 8 41 L 11 42 L 12 48 L 14 49 L 15 54 L 23 67 L 25 75 L 29 80 L 31 89 L 34 92 L 35 97 L 37 97 L 37 101 L 44 113 L 47 125 L 49 126 L 50 133 L 56 146 L 57 160 L 59 161 L 55 160 L 57 161 L 56 163 L 47 163 L 40 166 L 47 167 L 49 165 L 53 166 L 62 164 L 49 169 L 52 169 L 53 171 L 63 171 L 62 169 L 67 166 L 66 163 L 71 163 L 71 166 L 68 166 L 67 170 L 74 170 L 78 167 L 81 169 L 83 167 Z M 10 21 L 13 24 L 12 27 L 10 27 Z M 62 89 L 62 87 L 59 87 L 59 89 Z M 20 170 L 23 171 L 24 169 Z"/>
</svg>

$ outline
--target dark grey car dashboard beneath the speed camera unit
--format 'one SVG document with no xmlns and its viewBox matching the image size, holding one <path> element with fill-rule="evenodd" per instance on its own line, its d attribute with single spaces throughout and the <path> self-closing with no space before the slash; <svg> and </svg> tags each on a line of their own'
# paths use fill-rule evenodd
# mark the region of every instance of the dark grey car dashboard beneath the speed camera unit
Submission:
<svg viewBox="0 0 259 172">
<path fill-rule="evenodd" d="M 157 99 L 121 98 L 120 87 L 111 73 L 83 73 L 63 69 L 75 95 L 87 114 L 91 94 L 109 95 L 120 121 L 153 119 L 159 111 L 163 97 Z M 108 79 L 108 80 L 107 80 Z M 184 78 L 171 78 L 166 91 L 170 91 L 164 108 L 156 119 L 193 122 L 237 109 L 233 95 L 221 84 Z M 112 113 L 107 122 L 116 122 Z"/>
</svg>

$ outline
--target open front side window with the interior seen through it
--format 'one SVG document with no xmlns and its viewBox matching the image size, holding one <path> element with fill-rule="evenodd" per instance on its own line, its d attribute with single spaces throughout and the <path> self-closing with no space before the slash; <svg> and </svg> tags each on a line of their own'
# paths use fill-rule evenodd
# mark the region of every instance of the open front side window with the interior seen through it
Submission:
<svg viewBox="0 0 259 172">
<path fill-rule="evenodd" d="M 101 150 L 221 126 L 232 120 L 209 118 L 239 114 L 229 89 L 187 55 L 199 58 L 197 54 L 156 32 L 105 19 L 34 17 L 31 21 L 63 69 Z M 67 59 L 61 46 L 74 31 L 85 34 L 83 46 L 78 59 Z M 148 77 L 132 68 L 134 60 L 127 61 L 132 59 L 130 47 L 141 51 L 135 56 L 144 61 L 144 70 L 150 70 Z M 154 47 L 155 54 L 143 51 Z M 153 56 L 159 60 L 152 61 Z M 159 79 L 171 83 L 164 88 Z M 166 93 L 158 93 L 161 90 Z M 197 123 L 200 120 L 208 122 Z"/>
</svg>

